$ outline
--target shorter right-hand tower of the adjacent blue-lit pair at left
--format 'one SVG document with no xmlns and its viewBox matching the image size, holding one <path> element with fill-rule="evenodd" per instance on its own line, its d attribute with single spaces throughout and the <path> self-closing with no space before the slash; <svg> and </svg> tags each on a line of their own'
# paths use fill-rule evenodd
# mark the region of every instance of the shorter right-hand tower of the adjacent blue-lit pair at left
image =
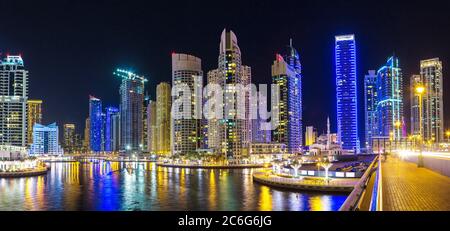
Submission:
<svg viewBox="0 0 450 231">
<path fill-rule="evenodd" d="M 119 151 L 120 143 L 120 113 L 116 107 L 105 109 L 105 151 Z"/>
</svg>

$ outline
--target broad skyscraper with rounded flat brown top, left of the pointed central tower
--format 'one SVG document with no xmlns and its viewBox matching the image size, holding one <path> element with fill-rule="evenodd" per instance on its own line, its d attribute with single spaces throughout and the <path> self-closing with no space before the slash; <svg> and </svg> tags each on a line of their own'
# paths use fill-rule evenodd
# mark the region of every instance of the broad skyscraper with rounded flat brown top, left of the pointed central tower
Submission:
<svg viewBox="0 0 450 231">
<path fill-rule="evenodd" d="M 200 148 L 201 120 L 194 118 L 201 113 L 203 71 L 201 59 L 188 54 L 172 54 L 172 85 L 188 86 L 189 96 L 173 96 L 172 102 L 180 98 L 183 106 L 189 105 L 189 118 L 183 117 L 183 108 L 174 108 L 172 114 L 172 154 L 187 154 Z M 186 112 L 184 112 L 186 113 Z M 201 116 L 201 114 L 200 114 Z M 176 118 L 176 119 L 175 119 Z"/>
</svg>

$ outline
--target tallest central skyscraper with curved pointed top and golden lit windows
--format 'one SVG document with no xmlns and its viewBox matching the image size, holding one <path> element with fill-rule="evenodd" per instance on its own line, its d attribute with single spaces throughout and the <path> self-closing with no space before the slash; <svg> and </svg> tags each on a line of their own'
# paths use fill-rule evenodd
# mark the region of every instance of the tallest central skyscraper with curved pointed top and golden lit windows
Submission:
<svg viewBox="0 0 450 231">
<path fill-rule="evenodd" d="M 241 51 L 233 31 L 224 29 L 220 36 L 218 68 L 208 72 L 208 84 L 224 89 L 224 118 L 208 121 L 208 145 L 229 160 L 239 160 L 248 153 L 251 141 L 250 97 L 237 99 L 237 84 L 251 83 L 251 68 L 242 65 Z M 244 103 L 244 118 L 237 118 L 238 100 Z M 229 110 L 228 110 L 229 109 Z"/>
</svg>

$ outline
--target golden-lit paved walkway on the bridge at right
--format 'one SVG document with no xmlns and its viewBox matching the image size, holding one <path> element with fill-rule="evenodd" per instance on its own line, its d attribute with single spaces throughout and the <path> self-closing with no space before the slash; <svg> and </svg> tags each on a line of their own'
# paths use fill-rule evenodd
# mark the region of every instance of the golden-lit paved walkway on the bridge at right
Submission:
<svg viewBox="0 0 450 231">
<path fill-rule="evenodd" d="M 393 156 L 381 165 L 384 211 L 450 211 L 450 177 Z"/>
</svg>

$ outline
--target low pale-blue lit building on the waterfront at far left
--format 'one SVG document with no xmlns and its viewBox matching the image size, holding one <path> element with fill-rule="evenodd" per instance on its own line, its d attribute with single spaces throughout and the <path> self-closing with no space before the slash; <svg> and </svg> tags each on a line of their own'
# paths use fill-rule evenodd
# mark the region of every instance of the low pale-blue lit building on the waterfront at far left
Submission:
<svg viewBox="0 0 450 231">
<path fill-rule="evenodd" d="M 59 145 L 58 126 L 52 123 L 48 126 L 36 123 L 33 126 L 33 144 L 30 147 L 30 155 L 62 155 Z"/>
</svg>

